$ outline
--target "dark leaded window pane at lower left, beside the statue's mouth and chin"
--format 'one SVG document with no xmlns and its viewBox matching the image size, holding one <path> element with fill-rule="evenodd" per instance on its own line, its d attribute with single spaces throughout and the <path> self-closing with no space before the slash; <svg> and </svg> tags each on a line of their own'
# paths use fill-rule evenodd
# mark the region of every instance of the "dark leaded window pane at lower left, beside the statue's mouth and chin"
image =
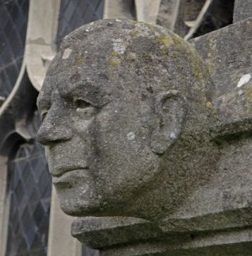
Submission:
<svg viewBox="0 0 252 256">
<path fill-rule="evenodd" d="M 37 142 L 20 145 L 8 171 L 6 256 L 46 256 L 52 187 L 44 149 Z"/>
</svg>

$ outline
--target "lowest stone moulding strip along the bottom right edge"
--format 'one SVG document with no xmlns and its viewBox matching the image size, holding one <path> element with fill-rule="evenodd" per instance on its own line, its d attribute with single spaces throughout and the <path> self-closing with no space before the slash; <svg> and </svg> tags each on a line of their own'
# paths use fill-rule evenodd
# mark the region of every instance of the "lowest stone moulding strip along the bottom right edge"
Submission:
<svg viewBox="0 0 252 256">
<path fill-rule="evenodd" d="M 169 239 L 165 242 L 138 242 L 118 248 L 102 250 L 101 256 L 248 256 L 251 254 L 252 230 L 229 231 L 216 234 L 197 234 L 190 239 Z"/>
</svg>

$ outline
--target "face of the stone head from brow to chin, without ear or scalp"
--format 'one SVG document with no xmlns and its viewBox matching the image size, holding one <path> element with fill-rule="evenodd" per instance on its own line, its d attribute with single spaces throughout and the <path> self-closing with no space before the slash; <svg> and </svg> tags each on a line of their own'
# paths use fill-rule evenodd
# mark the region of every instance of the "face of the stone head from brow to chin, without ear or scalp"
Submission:
<svg viewBox="0 0 252 256">
<path fill-rule="evenodd" d="M 73 214 L 105 207 L 111 199 L 125 204 L 158 168 L 149 145 L 153 110 L 142 92 L 98 83 L 72 83 L 59 71 L 45 80 L 38 99 L 44 118 L 38 138 L 46 145 L 60 203 Z"/>
</svg>

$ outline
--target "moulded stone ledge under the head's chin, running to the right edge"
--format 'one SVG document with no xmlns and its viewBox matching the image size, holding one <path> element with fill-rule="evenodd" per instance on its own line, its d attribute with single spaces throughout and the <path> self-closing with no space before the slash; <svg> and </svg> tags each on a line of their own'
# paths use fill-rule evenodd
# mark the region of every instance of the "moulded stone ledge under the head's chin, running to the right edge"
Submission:
<svg viewBox="0 0 252 256">
<path fill-rule="evenodd" d="M 72 235 L 101 256 L 251 254 L 252 228 L 167 233 L 154 226 L 126 217 L 77 218 Z"/>
</svg>

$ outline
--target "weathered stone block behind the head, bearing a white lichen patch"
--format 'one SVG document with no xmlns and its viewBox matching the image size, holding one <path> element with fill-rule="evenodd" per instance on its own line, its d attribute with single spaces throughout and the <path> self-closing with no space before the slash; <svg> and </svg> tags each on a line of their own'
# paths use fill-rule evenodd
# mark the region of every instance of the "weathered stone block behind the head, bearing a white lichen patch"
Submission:
<svg viewBox="0 0 252 256">
<path fill-rule="evenodd" d="M 200 52 L 216 85 L 219 122 L 215 133 L 247 133 L 252 128 L 252 18 L 197 37 Z"/>
</svg>

